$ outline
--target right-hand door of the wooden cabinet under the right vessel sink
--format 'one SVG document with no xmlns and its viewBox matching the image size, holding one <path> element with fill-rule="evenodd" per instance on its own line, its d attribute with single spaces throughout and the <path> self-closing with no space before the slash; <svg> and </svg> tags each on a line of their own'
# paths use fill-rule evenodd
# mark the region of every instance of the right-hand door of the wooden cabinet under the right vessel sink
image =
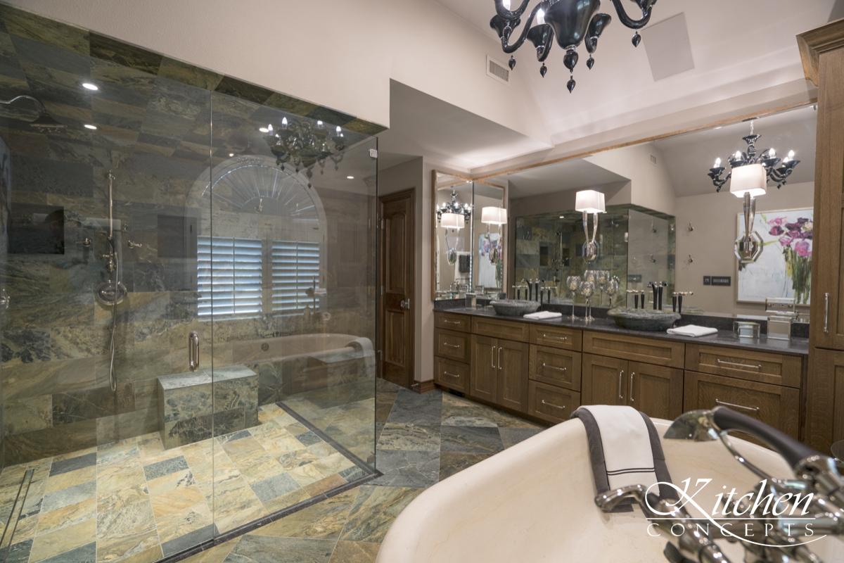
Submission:
<svg viewBox="0 0 844 563">
<path fill-rule="evenodd" d="M 657 419 L 683 414 L 683 370 L 636 361 L 627 369 L 627 404 Z"/>
</svg>

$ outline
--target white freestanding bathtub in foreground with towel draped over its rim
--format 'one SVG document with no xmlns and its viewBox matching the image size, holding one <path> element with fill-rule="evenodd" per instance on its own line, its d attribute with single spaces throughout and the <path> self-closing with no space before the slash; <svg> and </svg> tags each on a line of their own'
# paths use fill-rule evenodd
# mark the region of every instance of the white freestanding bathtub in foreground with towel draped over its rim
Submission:
<svg viewBox="0 0 844 563">
<path fill-rule="evenodd" d="M 662 436 L 669 423 L 654 424 Z M 775 452 L 735 443 L 773 476 L 792 475 Z M 759 482 L 721 442 L 663 440 L 663 449 L 675 484 L 712 479 L 696 498 L 710 510 L 722 485 L 744 495 Z M 377 563 L 665 560 L 666 539 L 648 534 L 641 510 L 604 514 L 594 496 L 586 431 L 580 420 L 569 420 L 425 490 L 392 524 Z M 722 548 L 734 563 L 743 560 L 740 546 Z M 838 539 L 820 539 L 813 548 L 826 561 L 844 560 Z"/>
</svg>

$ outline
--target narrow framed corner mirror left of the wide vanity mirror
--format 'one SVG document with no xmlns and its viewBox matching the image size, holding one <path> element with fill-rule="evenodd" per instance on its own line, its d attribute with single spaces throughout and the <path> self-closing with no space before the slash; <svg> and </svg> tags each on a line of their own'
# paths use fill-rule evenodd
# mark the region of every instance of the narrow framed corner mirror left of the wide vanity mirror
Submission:
<svg viewBox="0 0 844 563">
<path fill-rule="evenodd" d="M 434 171 L 431 298 L 505 291 L 506 187 Z"/>
</svg>

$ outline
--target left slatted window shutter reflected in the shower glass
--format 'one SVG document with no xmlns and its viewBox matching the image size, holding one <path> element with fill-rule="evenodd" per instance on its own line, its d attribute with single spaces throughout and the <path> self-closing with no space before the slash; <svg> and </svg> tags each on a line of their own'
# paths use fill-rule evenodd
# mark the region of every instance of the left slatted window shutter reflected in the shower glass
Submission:
<svg viewBox="0 0 844 563">
<path fill-rule="evenodd" d="M 220 236 L 197 237 L 198 315 L 256 317 L 262 312 L 262 243 Z"/>
</svg>

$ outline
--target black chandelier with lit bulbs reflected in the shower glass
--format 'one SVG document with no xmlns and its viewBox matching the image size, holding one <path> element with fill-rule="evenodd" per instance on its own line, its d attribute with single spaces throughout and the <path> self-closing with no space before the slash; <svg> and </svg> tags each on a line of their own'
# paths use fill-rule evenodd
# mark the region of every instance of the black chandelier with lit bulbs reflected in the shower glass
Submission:
<svg viewBox="0 0 844 563">
<path fill-rule="evenodd" d="M 284 117 L 278 128 L 270 123 L 258 130 L 266 133 L 264 139 L 275 156 L 275 163 L 282 170 L 285 165 L 292 165 L 296 172 L 304 167 L 310 178 L 314 165 L 324 171 L 327 160 L 331 160 L 334 170 L 339 170 L 340 162 L 343 161 L 346 140 L 343 128 L 339 125 L 332 129 L 322 121 L 313 124 L 310 121 L 288 121 Z"/>
</svg>

